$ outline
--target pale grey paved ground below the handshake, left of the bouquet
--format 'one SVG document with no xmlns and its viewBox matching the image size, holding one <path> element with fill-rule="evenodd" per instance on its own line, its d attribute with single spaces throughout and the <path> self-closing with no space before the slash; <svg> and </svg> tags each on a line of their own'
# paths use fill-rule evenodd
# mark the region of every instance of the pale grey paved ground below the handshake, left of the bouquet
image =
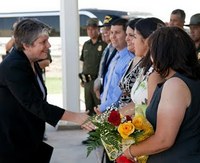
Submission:
<svg viewBox="0 0 200 163">
<path fill-rule="evenodd" d="M 54 147 L 50 163 L 99 163 L 97 152 L 86 157 L 87 147 L 82 140 L 87 137 L 83 130 L 57 130 L 49 125 L 46 127 L 47 143 Z"/>
</svg>

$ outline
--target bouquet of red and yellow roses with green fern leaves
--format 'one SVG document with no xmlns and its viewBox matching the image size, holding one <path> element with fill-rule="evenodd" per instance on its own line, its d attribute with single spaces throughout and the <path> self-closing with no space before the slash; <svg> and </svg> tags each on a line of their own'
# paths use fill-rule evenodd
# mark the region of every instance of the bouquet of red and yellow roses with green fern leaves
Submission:
<svg viewBox="0 0 200 163">
<path fill-rule="evenodd" d="M 96 130 L 89 132 L 87 156 L 92 150 L 104 146 L 111 161 L 122 159 L 121 154 L 131 145 L 141 142 L 151 136 L 152 125 L 143 114 L 144 106 L 135 108 L 135 115 L 122 116 L 118 110 L 108 110 L 90 118 Z M 120 157 L 119 157 L 120 156 Z M 136 158 L 138 163 L 145 163 L 148 156 Z"/>
</svg>

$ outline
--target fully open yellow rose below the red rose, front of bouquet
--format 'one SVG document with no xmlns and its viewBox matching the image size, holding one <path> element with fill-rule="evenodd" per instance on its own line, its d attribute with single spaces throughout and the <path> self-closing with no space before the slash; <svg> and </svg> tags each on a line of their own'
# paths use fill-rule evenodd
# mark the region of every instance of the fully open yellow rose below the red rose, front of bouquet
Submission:
<svg viewBox="0 0 200 163">
<path fill-rule="evenodd" d="M 135 126 L 132 124 L 131 121 L 121 123 L 118 127 L 118 132 L 124 139 L 127 139 L 129 135 L 132 134 L 134 131 L 135 131 Z"/>
</svg>

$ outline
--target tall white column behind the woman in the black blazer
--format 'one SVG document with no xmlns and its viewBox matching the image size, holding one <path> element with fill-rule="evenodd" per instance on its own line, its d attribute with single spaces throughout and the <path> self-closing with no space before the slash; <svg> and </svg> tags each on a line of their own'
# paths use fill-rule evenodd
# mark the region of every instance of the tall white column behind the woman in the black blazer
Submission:
<svg viewBox="0 0 200 163">
<path fill-rule="evenodd" d="M 61 0 L 60 32 L 62 47 L 63 106 L 80 111 L 79 14 L 78 0 Z M 60 122 L 60 125 L 70 124 Z"/>
</svg>

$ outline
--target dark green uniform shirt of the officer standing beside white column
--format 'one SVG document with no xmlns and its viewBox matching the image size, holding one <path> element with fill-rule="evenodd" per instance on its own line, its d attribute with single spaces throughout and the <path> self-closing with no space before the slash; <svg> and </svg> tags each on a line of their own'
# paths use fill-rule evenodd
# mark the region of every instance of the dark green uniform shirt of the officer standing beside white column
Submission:
<svg viewBox="0 0 200 163">
<path fill-rule="evenodd" d="M 100 37 L 94 44 L 91 39 L 84 43 L 80 57 L 83 61 L 83 74 L 97 77 L 102 53 L 106 46 L 107 44 Z"/>
</svg>

